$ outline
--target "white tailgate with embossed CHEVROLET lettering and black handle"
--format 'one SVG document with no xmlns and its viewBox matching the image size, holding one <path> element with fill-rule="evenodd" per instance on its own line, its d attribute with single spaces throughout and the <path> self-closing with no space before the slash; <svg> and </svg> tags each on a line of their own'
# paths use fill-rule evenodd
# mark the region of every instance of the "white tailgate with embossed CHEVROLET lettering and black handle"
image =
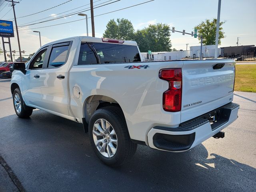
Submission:
<svg viewBox="0 0 256 192">
<path fill-rule="evenodd" d="M 234 66 L 234 60 L 184 61 L 181 122 L 232 102 Z"/>
</svg>

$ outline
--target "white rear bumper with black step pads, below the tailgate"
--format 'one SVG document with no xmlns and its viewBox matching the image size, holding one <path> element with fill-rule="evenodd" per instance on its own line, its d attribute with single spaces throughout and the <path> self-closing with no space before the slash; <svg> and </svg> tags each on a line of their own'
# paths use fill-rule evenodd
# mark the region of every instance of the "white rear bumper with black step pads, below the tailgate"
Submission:
<svg viewBox="0 0 256 192">
<path fill-rule="evenodd" d="M 178 128 L 153 127 L 148 132 L 148 145 L 172 152 L 189 150 L 234 122 L 238 118 L 238 109 L 238 104 L 230 103 L 184 122 Z M 211 116 L 217 117 L 214 123 L 210 123 Z"/>
</svg>

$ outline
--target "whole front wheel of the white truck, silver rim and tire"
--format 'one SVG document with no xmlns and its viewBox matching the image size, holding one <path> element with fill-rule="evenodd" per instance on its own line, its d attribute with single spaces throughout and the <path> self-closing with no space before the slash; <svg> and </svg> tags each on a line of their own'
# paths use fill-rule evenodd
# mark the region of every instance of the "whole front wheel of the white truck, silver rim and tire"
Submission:
<svg viewBox="0 0 256 192">
<path fill-rule="evenodd" d="M 13 106 L 14 110 L 18 117 L 26 118 L 29 117 L 32 112 L 33 108 L 26 106 L 24 100 L 21 96 L 20 89 L 16 88 L 12 94 Z"/>
</svg>

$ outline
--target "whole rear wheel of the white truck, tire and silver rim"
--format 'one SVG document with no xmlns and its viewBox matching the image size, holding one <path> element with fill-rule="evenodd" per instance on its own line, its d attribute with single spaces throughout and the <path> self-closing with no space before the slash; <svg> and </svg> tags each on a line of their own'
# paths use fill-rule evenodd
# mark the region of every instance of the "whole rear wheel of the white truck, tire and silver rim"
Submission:
<svg viewBox="0 0 256 192">
<path fill-rule="evenodd" d="M 121 166 L 137 149 L 130 140 L 122 110 L 107 106 L 94 112 L 89 122 L 89 138 L 98 158 L 109 166 Z"/>
</svg>

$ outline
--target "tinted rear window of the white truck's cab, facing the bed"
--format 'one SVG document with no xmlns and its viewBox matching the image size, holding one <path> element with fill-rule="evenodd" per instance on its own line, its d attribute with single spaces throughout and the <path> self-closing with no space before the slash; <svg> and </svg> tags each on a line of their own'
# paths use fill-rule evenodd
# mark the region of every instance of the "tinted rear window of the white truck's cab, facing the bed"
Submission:
<svg viewBox="0 0 256 192">
<path fill-rule="evenodd" d="M 112 43 L 82 43 L 78 65 L 97 64 L 96 56 L 101 64 L 140 62 L 137 46 Z"/>
</svg>

